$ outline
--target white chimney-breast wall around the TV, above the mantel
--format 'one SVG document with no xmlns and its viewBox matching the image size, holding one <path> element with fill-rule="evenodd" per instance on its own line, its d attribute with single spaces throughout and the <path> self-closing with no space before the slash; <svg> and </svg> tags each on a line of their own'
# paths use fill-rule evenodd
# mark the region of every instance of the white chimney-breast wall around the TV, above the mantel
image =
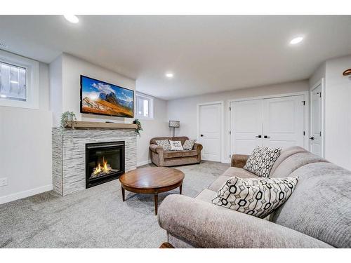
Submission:
<svg viewBox="0 0 351 263">
<path fill-rule="evenodd" d="M 79 121 L 114 121 L 123 123 L 133 120 L 112 116 L 98 116 L 95 114 L 81 114 L 79 107 L 81 75 L 113 83 L 131 90 L 135 90 L 134 79 L 129 79 L 117 72 L 93 65 L 91 62 L 81 60 L 66 53 L 62 53 L 60 57 L 51 62 L 50 71 L 52 73 L 51 80 L 55 83 L 55 85 L 51 86 L 51 106 L 54 114 L 54 126 L 60 126 L 60 115 L 66 111 L 74 112 Z M 61 95 L 62 97 L 60 97 Z"/>
</svg>

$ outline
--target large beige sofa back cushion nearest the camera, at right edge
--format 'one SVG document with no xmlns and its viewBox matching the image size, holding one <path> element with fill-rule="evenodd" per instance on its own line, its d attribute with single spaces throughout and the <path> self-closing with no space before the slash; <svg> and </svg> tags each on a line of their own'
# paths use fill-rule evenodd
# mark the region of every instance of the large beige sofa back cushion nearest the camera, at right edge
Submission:
<svg viewBox="0 0 351 263">
<path fill-rule="evenodd" d="M 272 215 L 272 222 L 336 248 L 351 248 L 351 172 L 333 163 L 298 168 L 298 185 Z"/>
</svg>

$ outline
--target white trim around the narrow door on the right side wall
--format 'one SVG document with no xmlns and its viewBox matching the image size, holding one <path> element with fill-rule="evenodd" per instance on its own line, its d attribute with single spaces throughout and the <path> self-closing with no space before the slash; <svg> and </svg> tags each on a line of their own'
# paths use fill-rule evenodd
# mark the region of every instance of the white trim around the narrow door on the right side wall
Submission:
<svg viewBox="0 0 351 263">
<path fill-rule="evenodd" d="M 310 131 L 312 130 L 312 92 L 315 88 L 317 88 L 318 86 L 321 86 L 321 90 L 322 90 L 322 138 L 321 138 L 321 142 L 322 142 L 322 158 L 325 158 L 325 102 L 326 102 L 326 90 L 325 90 L 325 85 L 324 85 L 324 78 L 319 79 L 316 83 L 314 83 L 314 85 L 310 88 Z M 310 137 L 310 133 L 308 133 L 308 137 Z M 308 150 L 311 151 L 311 144 L 310 142 L 308 142 Z"/>
</svg>

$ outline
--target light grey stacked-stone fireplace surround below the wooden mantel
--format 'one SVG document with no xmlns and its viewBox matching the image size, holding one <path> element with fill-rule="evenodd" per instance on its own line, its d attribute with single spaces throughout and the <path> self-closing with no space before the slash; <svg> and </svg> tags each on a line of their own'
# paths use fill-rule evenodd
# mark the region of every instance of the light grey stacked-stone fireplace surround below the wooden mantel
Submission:
<svg viewBox="0 0 351 263">
<path fill-rule="evenodd" d="M 53 128 L 53 190 L 65 196 L 86 189 L 86 144 L 124 141 L 125 170 L 136 169 L 136 133 L 124 128 Z"/>
</svg>

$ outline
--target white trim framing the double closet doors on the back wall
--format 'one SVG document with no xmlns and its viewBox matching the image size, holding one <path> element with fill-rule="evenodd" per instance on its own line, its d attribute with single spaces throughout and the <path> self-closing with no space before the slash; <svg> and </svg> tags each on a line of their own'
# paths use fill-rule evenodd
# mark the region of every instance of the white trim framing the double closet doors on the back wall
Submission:
<svg viewBox="0 0 351 263">
<path fill-rule="evenodd" d="M 232 102 L 241 102 L 241 101 L 247 101 L 247 100 L 263 100 L 263 99 L 272 99 L 275 97 L 291 97 L 291 96 L 298 96 L 298 95 L 303 95 L 303 100 L 305 100 L 305 111 L 304 111 L 304 130 L 305 130 L 305 136 L 303 140 L 303 144 L 305 145 L 305 149 L 310 149 L 310 142 L 308 142 L 308 135 L 310 135 L 310 92 L 308 90 L 306 91 L 300 91 L 296 93 L 282 93 L 282 94 L 277 94 L 277 95 L 266 95 L 266 96 L 258 96 L 258 97 L 241 97 L 239 99 L 231 99 L 227 100 L 227 142 L 228 142 L 228 147 L 227 147 L 227 154 L 225 158 L 225 163 L 230 163 L 230 155 L 235 154 L 230 152 L 230 145 L 232 143 L 231 141 L 231 135 L 230 135 L 230 103 Z"/>
</svg>

